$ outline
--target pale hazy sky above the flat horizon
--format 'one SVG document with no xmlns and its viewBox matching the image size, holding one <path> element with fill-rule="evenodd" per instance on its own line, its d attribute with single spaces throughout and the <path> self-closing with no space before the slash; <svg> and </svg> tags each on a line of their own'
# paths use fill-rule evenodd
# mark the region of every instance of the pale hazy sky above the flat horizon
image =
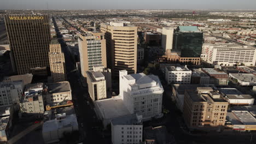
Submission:
<svg viewBox="0 0 256 144">
<path fill-rule="evenodd" d="M 256 0 L 0 0 L 0 9 L 256 9 Z"/>
</svg>

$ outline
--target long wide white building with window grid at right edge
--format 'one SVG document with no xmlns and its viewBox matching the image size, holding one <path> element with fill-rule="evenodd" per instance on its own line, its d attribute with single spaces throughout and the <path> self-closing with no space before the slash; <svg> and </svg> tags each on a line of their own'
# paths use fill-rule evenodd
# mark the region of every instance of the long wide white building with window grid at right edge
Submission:
<svg viewBox="0 0 256 144">
<path fill-rule="evenodd" d="M 203 44 L 204 61 L 210 64 L 233 66 L 235 64 L 255 65 L 256 50 L 254 47 L 234 43 Z"/>
</svg>

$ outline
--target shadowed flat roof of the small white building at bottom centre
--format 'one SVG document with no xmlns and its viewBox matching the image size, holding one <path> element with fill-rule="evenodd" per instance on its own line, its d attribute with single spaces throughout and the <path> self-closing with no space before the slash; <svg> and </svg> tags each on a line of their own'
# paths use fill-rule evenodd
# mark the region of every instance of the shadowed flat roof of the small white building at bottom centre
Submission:
<svg viewBox="0 0 256 144">
<path fill-rule="evenodd" d="M 137 125 L 138 119 L 135 113 L 123 117 L 114 118 L 111 120 L 113 125 Z M 142 125 L 142 123 L 141 123 Z"/>
</svg>

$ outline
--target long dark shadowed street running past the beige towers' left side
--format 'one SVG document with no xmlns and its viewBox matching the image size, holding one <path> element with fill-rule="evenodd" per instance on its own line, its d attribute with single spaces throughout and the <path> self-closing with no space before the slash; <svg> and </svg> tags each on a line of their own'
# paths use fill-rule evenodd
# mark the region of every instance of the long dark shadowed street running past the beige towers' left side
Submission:
<svg viewBox="0 0 256 144">
<path fill-rule="evenodd" d="M 58 31 L 59 30 L 56 29 L 56 32 Z M 57 38 L 61 37 L 61 34 L 57 34 Z M 63 43 L 62 39 L 59 39 L 59 42 L 61 43 L 62 51 L 65 55 L 67 79 L 70 82 L 72 89 L 72 100 L 78 118 L 81 140 L 83 140 L 84 143 L 110 143 L 110 137 L 103 138 L 100 130 L 94 129 L 95 127 L 100 127 L 100 123 L 97 122 L 92 104 L 87 104 L 87 101 L 89 100 L 88 89 L 83 87 L 80 82 L 80 76 L 74 71 L 74 59 L 72 58 L 71 53 L 67 50 L 66 44 Z"/>
</svg>

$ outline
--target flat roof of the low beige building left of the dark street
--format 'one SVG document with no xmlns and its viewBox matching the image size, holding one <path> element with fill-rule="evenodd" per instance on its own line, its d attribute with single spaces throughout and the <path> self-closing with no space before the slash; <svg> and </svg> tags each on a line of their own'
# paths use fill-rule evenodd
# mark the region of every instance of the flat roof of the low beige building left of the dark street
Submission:
<svg viewBox="0 0 256 144">
<path fill-rule="evenodd" d="M 71 91 L 71 87 L 68 81 L 46 83 L 49 93 L 61 93 Z"/>
</svg>

